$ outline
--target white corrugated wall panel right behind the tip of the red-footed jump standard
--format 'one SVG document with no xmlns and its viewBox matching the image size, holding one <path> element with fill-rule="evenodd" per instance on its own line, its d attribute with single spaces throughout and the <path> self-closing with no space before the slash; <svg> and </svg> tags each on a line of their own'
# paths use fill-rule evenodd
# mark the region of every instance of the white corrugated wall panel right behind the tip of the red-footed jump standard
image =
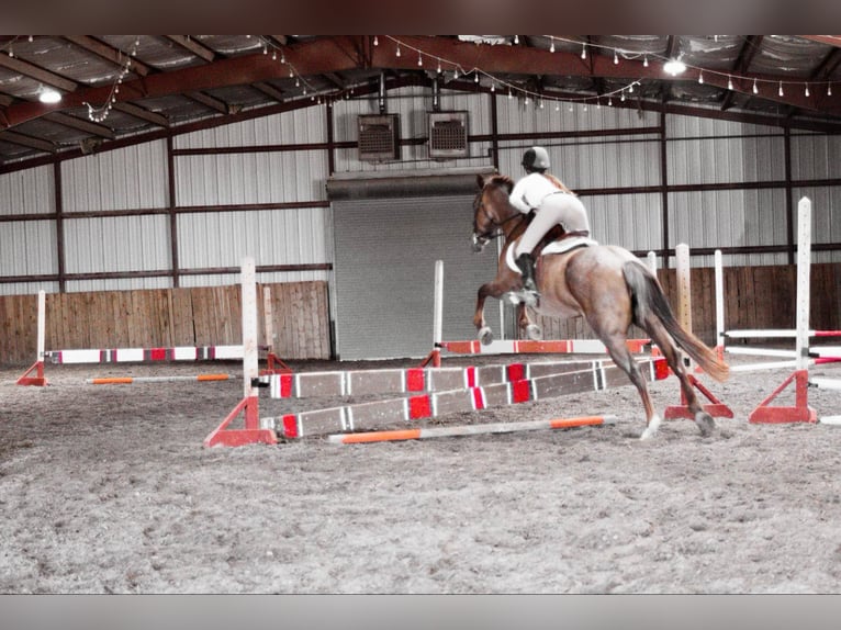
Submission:
<svg viewBox="0 0 841 630">
<path fill-rule="evenodd" d="M 178 260 L 183 269 L 332 261 L 327 209 L 187 213 L 178 216 Z M 229 279 L 228 279 L 229 280 Z"/>
</svg>

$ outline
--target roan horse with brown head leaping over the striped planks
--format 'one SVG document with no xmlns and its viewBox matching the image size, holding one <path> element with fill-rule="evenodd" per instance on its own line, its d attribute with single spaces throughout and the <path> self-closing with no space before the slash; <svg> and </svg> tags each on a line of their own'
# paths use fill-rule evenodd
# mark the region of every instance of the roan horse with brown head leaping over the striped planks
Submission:
<svg viewBox="0 0 841 630">
<path fill-rule="evenodd" d="M 478 176 L 479 192 L 473 201 L 473 250 L 481 251 L 497 236 L 504 237 L 496 278 L 480 286 L 473 324 L 482 344 L 493 340 L 485 325 L 485 299 L 514 296 L 518 303 L 518 323 L 534 338 L 536 327 L 530 323 L 522 291 L 520 274 L 506 261 L 508 248 L 525 232 L 528 216 L 514 207 L 508 196 L 514 182 L 502 175 Z M 558 236 L 550 233 L 550 238 Z M 561 235 L 561 238 L 563 235 Z M 686 368 L 680 357 L 683 349 L 716 381 L 727 380 L 730 368 L 695 335 L 684 329 L 672 312 L 660 282 L 651 270 L 630 251 L 614 245 L 574 247 L 563 254 L 543 254 L 537 265 L 539 301 L 536 311 L 553 317 L 583 316 L 605 345 L 610 359 L 637 387 L 646 410 L 646 429 L 640 439 L 653 437 L 661 424 L 655 413 L 646 379 L 639 370 L 628 345 L 631 324 L 642 328 L 657 344 L 672 372 L 681 382 L 688 409 L 703 437 L 713 434 L 715 421 L 702 407 Z"/>
</svg>

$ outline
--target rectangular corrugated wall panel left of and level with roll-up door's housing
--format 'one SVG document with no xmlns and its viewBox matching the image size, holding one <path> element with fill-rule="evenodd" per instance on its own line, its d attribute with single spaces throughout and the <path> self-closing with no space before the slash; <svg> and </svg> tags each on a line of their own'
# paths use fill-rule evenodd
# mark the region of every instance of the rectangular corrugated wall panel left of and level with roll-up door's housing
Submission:
<svg viewBox="0 0 841 630">
<path fill-rule="evenodd" d="M 294 153 L 178 156 L 179 206 L 293 203 L 326 199 L 327 156 Z"/>
</svg>

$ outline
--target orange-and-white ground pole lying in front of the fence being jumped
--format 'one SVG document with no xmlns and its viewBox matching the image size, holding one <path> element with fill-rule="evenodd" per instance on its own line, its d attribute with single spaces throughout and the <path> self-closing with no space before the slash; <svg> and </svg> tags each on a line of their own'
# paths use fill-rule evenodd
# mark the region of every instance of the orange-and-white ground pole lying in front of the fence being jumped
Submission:
<svg viewBox="0 0 841 630">
<path fill-rule="evenodd" d="M 537 431 L 541 429 L 571 429 L 574 427 L 593 427 L 615 424 L 616 416 L 583 416 L 580 418 L 556 418 L 550 420 L 530 420 L 523 423 L 491 423 L 485 425 L 397 429 L 392 431 L 333 434 L 327 436 L 327 440 L 335 445 L 363 445 L 372 442 L 395 442 L 403 440 L 425 440 L 429 438 L 478 436 L 485 434 L 512 434 L 519 431 Z"/>
</svg>

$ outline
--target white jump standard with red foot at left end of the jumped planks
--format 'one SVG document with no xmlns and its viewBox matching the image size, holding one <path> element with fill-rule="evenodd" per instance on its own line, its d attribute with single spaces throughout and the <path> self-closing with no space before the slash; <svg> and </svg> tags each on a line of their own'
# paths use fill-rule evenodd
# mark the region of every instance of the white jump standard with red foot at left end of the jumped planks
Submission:
<svg viewBox="0 0 841 630">
<path fill-rule="evenodd" d="M 205 447 L 242 447 L 253 443 L 278 443 L 272 429 L 260 427 L 259 359 L 257 346 L 257 271 L 254 258 L 243 259 L 240 269 L 243 302 L 243 400 L 206 438 Z M 244 428 L 228 426 L 243 416 Z"/>
</svg>

